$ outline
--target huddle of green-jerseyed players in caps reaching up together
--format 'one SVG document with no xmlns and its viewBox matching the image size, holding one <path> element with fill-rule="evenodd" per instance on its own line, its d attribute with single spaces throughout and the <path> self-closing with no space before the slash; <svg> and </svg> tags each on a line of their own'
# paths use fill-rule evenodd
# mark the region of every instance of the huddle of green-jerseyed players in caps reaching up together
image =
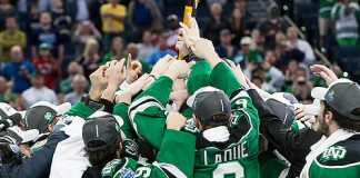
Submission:
<svg viewBox="0 0 360 178">
<path fill-rule="evenodd" d="M 329 87 L 303 106 L 220 59 L 193 18 L 181 27 L 184 60 L 108 62 L 72 107 L 1 103 L 2 177 L 359 177 L 359 85 L 314 65 Z"/>
</svg>

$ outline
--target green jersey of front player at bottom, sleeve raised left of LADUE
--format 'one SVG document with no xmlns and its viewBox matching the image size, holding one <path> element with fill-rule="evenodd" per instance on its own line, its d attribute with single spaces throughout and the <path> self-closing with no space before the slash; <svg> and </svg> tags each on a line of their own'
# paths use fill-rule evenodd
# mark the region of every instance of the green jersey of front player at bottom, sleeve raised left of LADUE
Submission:
<svg viewBox="0 0 360 178">
<path fill-rule="evenodd" d="M 114 159 L 106 165 L 101 175 L 103 178 L 191 177 L 194 142 L 196 138 L 190 134 L 166 130 L 156 162 L 140 165 L 131 158 Z"/>
</svg>

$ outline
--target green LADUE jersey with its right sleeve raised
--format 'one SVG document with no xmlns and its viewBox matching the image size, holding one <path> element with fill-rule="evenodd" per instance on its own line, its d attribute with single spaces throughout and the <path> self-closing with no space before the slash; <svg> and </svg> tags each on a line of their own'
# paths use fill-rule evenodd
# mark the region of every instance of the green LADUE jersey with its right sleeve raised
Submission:
<svg viewBox="0 0 360 178">
<path fill-rule="evenodd" d="M 211 71 L 210 85 L 230 98 L 230 137 L 226 142 L 211 142 L 198 135 L 194 177 L 259 177 L 259 116 L 251 98 L 224 62 Z"/>
</svg>

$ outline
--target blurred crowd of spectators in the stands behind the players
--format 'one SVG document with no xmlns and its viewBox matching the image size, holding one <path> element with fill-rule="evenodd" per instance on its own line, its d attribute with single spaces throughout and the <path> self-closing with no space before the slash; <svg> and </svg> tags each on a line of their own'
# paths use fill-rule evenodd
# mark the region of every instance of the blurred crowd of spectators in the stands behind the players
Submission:
<svg viewBox="0 0 360 178">
<path fill-rule="evenodd" d="M 19 110 L 40 100 L 76 103 L 89 90 L 90 73 L 129 53 L 149 72 L 158 59 L 177 55 L 182 14 L 168 14 L 166 9 L 182 9 L 179 4 L 171 0 L 0 0 L 0 101 Z M 301 4 L 318 7 L 320 48 L 328 47 L 330 38 L 336 39 L 331 47 L 359 47 L 357 1 L 299 0 L 290 10 Z M 220 58 L 239 63 L 261 89 L 288 91 L 309 102 L 311 89 L 324 86 L 309 72 L 309 65 L 321 62 L 313 51 L 317 44 L 301 39 L 299 29 L 281 16 L 288 4 L 272 4 L 266 19 L 252 17 L 246 0 L 207 0 L 199 6 L 209 11 L 200 22 L 202 36 L 213 42 Z M 291 13 L 294 21 L 301 20 L 299 12 Z M 331 69 L 349 77 L 343 60 L 329 57 Z"/>
</svg>

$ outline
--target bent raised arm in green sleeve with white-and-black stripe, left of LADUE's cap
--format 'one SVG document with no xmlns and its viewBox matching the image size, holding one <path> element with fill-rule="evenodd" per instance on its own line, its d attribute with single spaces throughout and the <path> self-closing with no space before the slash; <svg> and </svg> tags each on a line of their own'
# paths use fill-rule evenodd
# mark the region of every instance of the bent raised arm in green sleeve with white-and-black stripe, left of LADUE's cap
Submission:
<svg viewBox="0 0 360 178">
<path fill-rule="evenodd" d="M 166 130 L 168 112 L 164 106 L 169 102 L 173 81 L 187 77 L 190 68 L 186 61 L 161 59 L 159 62 L 161 67 L 156 66 L 153 69 L 156 72 L 152 72 L 151 76 L 154 78 L 158 78 L 158 75 L 161 76 L 137 97 L 128 111 L 137 134 L 156 149 L 160 148 Z"/>
</svg>

